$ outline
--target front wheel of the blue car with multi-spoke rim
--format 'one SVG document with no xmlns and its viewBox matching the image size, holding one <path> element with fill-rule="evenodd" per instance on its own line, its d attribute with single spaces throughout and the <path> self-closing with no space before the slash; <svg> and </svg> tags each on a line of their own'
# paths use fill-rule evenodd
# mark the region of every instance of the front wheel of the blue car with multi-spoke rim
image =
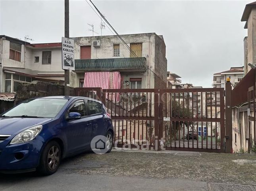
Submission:
<svg viewBox="0 0 256 191">
<path fill-rule="evenodd" d="M 49 142 L 42 151 L 38 172 L 42 175 L 54 174 L 60 166 L 61 156 L 62 153 L 58 142 Z"/>
</svg>

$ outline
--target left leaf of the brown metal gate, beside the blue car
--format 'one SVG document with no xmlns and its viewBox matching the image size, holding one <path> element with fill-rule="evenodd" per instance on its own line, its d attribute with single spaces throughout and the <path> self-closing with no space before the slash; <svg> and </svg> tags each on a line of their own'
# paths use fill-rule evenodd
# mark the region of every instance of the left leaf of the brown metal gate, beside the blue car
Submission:
<svg viewBox="0 0 256 191">
<path fill-rule="evenodd" d="M 115 146 L 157 149 L 158 89 L 104 89 L 102 102 L 113 121 Z"/>
</svg>

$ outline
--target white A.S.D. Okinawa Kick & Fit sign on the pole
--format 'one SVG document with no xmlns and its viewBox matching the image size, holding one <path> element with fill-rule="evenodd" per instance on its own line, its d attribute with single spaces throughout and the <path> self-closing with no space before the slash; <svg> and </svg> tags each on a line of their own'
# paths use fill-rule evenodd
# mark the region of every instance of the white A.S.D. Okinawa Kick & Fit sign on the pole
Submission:
<svg viewBox="0 0 256 191">
<path fill-rule="evenodd" d="M 62 37 L 62 69 L 75 70 L 74 40 Z"/>
</svg>

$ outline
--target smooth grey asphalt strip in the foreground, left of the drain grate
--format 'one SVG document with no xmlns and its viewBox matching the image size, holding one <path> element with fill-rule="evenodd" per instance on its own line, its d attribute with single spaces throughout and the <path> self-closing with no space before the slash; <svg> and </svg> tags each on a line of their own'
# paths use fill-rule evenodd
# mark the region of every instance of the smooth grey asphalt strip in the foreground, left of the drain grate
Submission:
<svg viewBox="0 0 256 191">
<path fill-rule="evenodd" d="M 207 190 L 206 182 L 95 174 L 67 174 L 60 169 L 47 177 L 33 174 L 0 176 L 0 190 Z"/>
</svg>

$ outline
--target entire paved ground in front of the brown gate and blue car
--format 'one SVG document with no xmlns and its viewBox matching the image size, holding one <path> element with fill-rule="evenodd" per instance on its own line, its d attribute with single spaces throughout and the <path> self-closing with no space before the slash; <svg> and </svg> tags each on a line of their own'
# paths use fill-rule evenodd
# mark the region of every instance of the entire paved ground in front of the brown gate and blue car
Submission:
<svg viewBox="0 0 256 191">
<path fill-rule="evenodd" d="M 51 176 L 0 174 L 0 191 L 208 190 L 207 182 L 231 183 L 226 190 L 237 190 L 234 183 L 254 184 L 252 190 L 256 190 L 255 162 L 255 155 L 246 154 L 132 150 L 84 153 L 65 159 Z"/>
</svg>

